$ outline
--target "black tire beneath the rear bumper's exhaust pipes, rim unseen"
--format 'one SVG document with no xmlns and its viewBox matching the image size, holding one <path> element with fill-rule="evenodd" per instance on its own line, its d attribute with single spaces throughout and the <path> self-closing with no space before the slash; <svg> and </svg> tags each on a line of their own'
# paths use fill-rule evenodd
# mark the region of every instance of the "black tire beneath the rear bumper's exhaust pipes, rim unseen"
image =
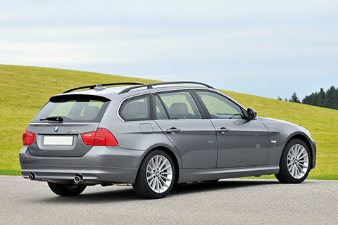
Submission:
<svg viewBox="0 0 338 225">
<path fill-rule="evenodd" d="M 49 188 L 51 191 L 60 196 L 77 196 L 80 195 L 87 187 L 85 185 L 76 185 L 76 184 L 54 184 L 48 182 Z"/>
</svg>

